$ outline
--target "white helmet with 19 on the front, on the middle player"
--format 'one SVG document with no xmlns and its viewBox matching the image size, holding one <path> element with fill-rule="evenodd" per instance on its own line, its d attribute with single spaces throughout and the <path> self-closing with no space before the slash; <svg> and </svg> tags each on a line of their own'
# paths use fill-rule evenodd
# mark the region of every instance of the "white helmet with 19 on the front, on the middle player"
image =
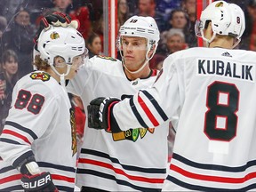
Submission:
<svg viewBox="0 0 256 192">
<path fill-rule="evenodd" d="M 156 25 L 156 20 L 154 20 L 152 17 L 143 17 L 143 16 L 132 16 L 130 19 L 126 20 L 124 22 L 124 25 L 120 27 L 119 29 L 119 48 L 122 48 L 122 36 L 134 36 L 134 37 L 144 37 L 147 39 L 147 48 L 148 52 L 152 50 L 153 45 L 155 44 L 155 48 L 153 50 L 153 54 L 150 58 L 148 58 L 148 52 L 146 54 L 146 62 L 144 65 L 141 66 L 141 68 L 135 72 L 131 73 L 138 73 L 144 66 L 147 64 L 148 60 L 151 60 L 151 58 L 154 56 L 156 52 L 156 48 L 158 45 L 158 41 L 160 39 L 160 32 Z M 123 58 L 122 52 L 121 56 Z M 123 60 L 124 62 L 124 60 Z M 124 68 L 125 64 L 124 64 Z M 126 68 L 128 71 L 129 69 Z"/>
</svg>

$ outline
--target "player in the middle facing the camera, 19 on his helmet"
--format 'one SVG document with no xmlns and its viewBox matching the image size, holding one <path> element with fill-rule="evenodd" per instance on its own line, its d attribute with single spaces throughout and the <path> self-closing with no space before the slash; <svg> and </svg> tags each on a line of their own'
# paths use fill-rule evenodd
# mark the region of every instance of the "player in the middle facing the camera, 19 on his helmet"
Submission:
<svg viewBox="0 0 256 192">
<path fill-rule="evenodd" d="M 55 25 L 55 21 L 51 23 Z M 157 71 L 149 68 L 148 60 L 158 41 L 156 21 L 133 16 L 120 28 L 123 60 L 93 57 L 69 81 L 68 91 L 87 106 L 95 97 L 125 94 L 125 98 L 149 87 L 156 81 Z M 115 134 L 87 125 L 76 171 L 76 185 L 82 191 L 161 190 L 166 177 L 168 123 L 157 131 L 154 126 L 145 129 L 140 125 Z"/>
</svg>

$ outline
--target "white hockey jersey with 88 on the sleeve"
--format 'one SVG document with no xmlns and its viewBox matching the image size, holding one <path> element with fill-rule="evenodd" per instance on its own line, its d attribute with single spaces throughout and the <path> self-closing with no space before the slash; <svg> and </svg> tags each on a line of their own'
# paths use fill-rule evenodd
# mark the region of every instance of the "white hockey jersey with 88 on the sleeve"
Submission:
<svg viewBox="0 0 256 192">
<path fill-rule="evenodd" d="M 20 79 L 0 136 L 0 191 L 22 189 L 14 167 L 33 154 L 59 190 L 74 191 L 77 149 L 70 108 L 67 91 L 52 76 L 35 71 Z"/>
</svg>

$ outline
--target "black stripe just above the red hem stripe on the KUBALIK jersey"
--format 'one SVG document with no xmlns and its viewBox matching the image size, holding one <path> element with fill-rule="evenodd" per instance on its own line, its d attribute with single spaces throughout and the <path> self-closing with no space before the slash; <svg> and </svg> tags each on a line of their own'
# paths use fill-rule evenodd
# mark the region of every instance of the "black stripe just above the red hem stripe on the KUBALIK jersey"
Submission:
<svg viewBox="0 0 256 192">
<path fill-rule="evenodd" d="M 172 158 L 182 162 L 183 164 L 188 164 L 191 167 L 205 169 L 205 170 L 215 170 L 215 171 L 221 171 L 221 172 L 244 172 L 249 167 L 256 165 L 256 160 L 250 161 L 247 164 L 244 164 L 242 166 L 237 166 L 237 167 L 229 167 L 229 166 L 223 166 L 219 164 L 199 164 L 191 160 L 188 160 L 187 158 L 180 156 L 176 153 L 172 155 Z"/>
</svg>

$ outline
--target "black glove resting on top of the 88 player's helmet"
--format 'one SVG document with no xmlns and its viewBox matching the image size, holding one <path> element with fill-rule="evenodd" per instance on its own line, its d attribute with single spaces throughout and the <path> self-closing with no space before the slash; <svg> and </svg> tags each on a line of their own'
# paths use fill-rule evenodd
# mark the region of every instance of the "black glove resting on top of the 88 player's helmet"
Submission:
<svg viewBox="0 0 256 192">
<path fill-rule="evenodd" d="M 34 37 L 34 42 L 37 44 L 37 39 L 40 36 L 41 31 L 48 30 L 50 25 L 58 27 L 68 27 L 71 26 L 72 28 L 79 28 L 79 21 L 78 20 L 71 20 L 70 16 L 64 12 L 53 12 L 40 20 L 40 26 L 36 31 L 36 36 Z"/>
</svg>

